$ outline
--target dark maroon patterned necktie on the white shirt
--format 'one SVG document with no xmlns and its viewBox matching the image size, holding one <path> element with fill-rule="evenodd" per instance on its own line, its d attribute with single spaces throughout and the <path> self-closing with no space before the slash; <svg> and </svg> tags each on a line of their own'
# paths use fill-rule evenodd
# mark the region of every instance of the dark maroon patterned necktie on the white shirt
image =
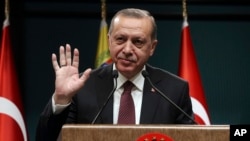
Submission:
<svg viewBox="0 0 250 141">
<path fill-rule="evenodd" d="M 124 91 L 121 95 L 118 124 L 135 124 L 135 106 L 131 95 L 134 84 L 127 81 L 123 84 Z"/>
</svg>

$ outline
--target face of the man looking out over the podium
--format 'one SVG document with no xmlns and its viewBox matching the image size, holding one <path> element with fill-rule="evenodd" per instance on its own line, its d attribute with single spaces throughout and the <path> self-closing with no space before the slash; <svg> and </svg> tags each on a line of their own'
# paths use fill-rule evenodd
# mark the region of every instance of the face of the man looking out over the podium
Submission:
<svg viewBox="0 0 250 141">
<path fill-rule="evenodd" d="M 109 35 L 109 50 L 120 73 L 131 78 L 153 55 L 157 40 L 152 40 L 152 25 L 148 18 L 118 16 Z"/>
</svg>

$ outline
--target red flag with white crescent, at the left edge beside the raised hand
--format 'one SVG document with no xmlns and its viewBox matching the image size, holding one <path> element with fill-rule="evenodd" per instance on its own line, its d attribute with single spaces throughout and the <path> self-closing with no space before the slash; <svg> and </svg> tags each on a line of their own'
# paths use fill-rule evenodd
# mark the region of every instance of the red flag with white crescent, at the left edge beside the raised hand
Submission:
<svg viewBox="0 0 250 141">
<path fill-rule="evenodd" d="M 9 20 L 6 18 L 0 50 L 0 141 L 27 141 L 15 71 L 10 45 Z"/>
</svg>

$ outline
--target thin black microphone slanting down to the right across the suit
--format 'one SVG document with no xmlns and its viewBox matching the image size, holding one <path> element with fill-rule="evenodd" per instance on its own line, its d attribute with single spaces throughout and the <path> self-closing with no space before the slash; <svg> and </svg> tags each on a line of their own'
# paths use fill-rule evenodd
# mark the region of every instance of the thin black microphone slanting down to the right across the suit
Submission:
<svg viewBox="0 0 250 141">
<path fill-rule="evenodd" d="M 194 119 L 190 116 L 190 115 L 188 115 L 184 110 L 182 110 L 178 105 L 176 105 L 169 97 L 167 97 L 163 92 L 161 92 L 159 89 L 157 89 L 154 85 L 153 85 L 153 83 L 152 83 L 152 81 L 150 80 L 150 78 L 149 78 L 149 74 L 148 74 L 148 72 L 147 71 L 145 71 L 145 70 L 143 70 L 142 71 L 142 75 L 143 75 L 143 77 L 145 78 L 145 79 L 147 79 L 148 80 L 148 82 L 150 83 L 150 85 L 165 99 L 165 100 L 167 100 L 169 103 L 171 103 L 175 108 L 177 108 L 179 111 L 181 111 L 186 117 L 188 117 L 193 123 L 195 123 L 195 124 L 197 124 L 195 121 L 194 121 Z"/>
</svg>

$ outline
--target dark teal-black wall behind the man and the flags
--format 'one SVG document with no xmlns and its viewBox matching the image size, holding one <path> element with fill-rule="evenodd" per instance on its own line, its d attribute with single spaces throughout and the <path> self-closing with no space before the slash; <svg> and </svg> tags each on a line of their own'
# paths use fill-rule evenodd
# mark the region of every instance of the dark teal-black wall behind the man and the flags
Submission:
<svg viewBox="0 0 250 141">
<path fill-rule="evenodd" d="M 182 27 L 180 0 L 107 0 L 107 22 L 121 8 L 149 10 L 158 40 L 150 64 L 177 74 Z M 212 124 L 250 124 L 250 4 L 245 0 L 189 0 L 191 36 Z M 1 11 L 4 11 L 4 1 Z M 70 43 L 80 71 L 94 67 L 99 0 L 10 0 L 11 39 L 30 140 L 54 90 L 51 54 Z M 1 13 L 1 21 L 4 12 Z"/>
</svg>

